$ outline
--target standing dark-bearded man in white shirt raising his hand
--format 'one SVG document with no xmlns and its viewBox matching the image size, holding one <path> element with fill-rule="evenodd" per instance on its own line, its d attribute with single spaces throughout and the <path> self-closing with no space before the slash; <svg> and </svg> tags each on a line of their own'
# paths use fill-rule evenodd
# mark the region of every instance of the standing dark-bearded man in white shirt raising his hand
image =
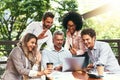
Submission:
<svg viewBox="0 0 120 80">
<path fill-rule="evenodd" d="M 49 30 L 53 24 L 54 15 L 51 12 L 46 12 L 41 22 L 32 22 L 30 23 L 24 35 L 27 33 L 33 33 L 38 37 L 38 50 L 40 50 L 42 44 L 46 43 L 48 47 L 53 46 L 52 43 L 52 33 Z"/>
</svg>

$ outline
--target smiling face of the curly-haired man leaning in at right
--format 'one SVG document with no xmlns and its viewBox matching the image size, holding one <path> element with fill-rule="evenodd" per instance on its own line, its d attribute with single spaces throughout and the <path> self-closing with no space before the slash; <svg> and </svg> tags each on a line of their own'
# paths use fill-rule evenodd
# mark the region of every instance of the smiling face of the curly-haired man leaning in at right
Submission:
<svg viewBox="0 0 120 80">
<path fill-rule="evenodd" d="M 95 43 L 95 37 L 90 37 L 88 34 L 85 34 L 82 36 L 82 40 L 84 45 L 89 48 L 89 49 L 93 49 L 94 47 L 94 43 Z"/>
</svg>

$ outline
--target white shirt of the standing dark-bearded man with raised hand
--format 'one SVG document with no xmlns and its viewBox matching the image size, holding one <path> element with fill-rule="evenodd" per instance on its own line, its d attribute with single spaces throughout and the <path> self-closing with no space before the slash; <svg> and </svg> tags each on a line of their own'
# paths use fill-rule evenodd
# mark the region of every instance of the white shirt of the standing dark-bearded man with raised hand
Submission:
<svg viewBox="0 0 120 80">
<path fill-rule="evenodd" d="M 39 34 L 43 31 L 43 25 L 42 22 L 32 22 L 30 23 L 26 30 L 24 31 L 23 35 L 27 34 L 27 33 L 33 33 L 34 35 L 36 35 L 36 37 L 39 36 Z M 40 50 L 41 46 L 43 43 L 46 43 L 48 47 L 53 46 L 53 41 L 52 41 L 52 33 L 50 30 L 47 30 L 47 32 L 45 33 L 45 35 L 47 35 L 47 37 L 45 37 L 44 39 L 38 39 L 38 50 Z"/>
</svg>

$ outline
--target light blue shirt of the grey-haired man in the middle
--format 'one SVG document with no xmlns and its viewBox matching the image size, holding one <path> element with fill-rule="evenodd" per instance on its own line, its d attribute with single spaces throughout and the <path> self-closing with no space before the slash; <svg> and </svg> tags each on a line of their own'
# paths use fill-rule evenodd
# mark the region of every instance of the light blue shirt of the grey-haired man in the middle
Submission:
<svg viewBox="0 0 120 80">
<path fill-rule="evenodd" d="M 72 57 L 68 49 L 62 47 L 60 51 L 56 51 L 54 47 L 50 49 L 45 48 L 42 51 L 42 66 L 46 68 L 46 63 L 48 62 L 52 62 L 54 67 L 60 66 L 67 57 Z"/>
</svg>

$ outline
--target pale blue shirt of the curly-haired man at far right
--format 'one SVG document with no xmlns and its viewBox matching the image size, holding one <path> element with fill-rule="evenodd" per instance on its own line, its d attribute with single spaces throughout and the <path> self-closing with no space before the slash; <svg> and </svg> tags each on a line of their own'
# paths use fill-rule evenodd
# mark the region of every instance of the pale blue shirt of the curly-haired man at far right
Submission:
<svg viewBox="0 0 120 80">
<path fill-rule="evenodd" d="M 103 64 L 105 71 L 120 73 L 120 66 L 108 43 L 95 41 L 94 48 L 88 49 L 88 55 L 95 67 L 97 64 Z"/>
</svg>

